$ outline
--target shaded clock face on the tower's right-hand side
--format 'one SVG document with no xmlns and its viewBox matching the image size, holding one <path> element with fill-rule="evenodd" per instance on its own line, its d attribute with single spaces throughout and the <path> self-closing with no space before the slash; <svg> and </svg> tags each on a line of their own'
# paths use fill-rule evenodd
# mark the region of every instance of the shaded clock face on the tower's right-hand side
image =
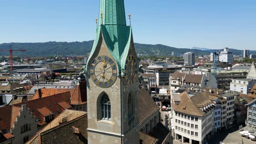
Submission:
<svg viewBox="0 0 256 144">
<path fill-rule="evenodd" d="M 125 61 L 125 81 L 127 85 L 133 85 L 137 81 L 138 62 L 134 56 L 128 56 Z"/>
</svg>

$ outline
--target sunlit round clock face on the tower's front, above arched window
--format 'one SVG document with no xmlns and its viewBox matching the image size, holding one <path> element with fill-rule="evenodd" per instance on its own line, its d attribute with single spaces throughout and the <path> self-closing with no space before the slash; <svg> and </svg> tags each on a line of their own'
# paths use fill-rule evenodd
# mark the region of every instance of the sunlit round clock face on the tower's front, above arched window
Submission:
<svg viewBox="0 0 256 144">
<path fill-rule="evenodd" d="M 108 56 L 98 56 L 90 65 L 92 81 L 101 88 L 108 88 L 117 79 L 117 67 L 115 62 Z"/>
</svg>

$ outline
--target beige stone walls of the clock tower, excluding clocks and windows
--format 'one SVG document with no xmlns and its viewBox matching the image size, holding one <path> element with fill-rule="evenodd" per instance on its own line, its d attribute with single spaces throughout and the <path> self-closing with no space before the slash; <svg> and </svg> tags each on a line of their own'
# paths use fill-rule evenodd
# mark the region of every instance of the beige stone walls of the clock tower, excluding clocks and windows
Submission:
<svg viewBox="0 0 256 144">
<path fill-rule="evenodd" d="M 109 56 L 113 59 L 102 36 L 92 56 Z M 135 55 L 131 43 L 128 55 Z M 89 59 L 91 64 L 92 59 Z M 118 71 L 121 68 L 118 68 Z M 118 72 L 121 73 L 121 72 Z M 100 88 L 87 75 L 88 107 L 88 143 L 89 144 L 138 144 L 138 78 L 134 85 L 128 86 L 125 79 L 118 75 L 115 83 L 109 88 Z M 128 95 L 132 96 L 132 118 L 128 118 Z M 108 95 L 111 103 L 111 120 L 101 119 L 101 98 Z"/>
</svg>

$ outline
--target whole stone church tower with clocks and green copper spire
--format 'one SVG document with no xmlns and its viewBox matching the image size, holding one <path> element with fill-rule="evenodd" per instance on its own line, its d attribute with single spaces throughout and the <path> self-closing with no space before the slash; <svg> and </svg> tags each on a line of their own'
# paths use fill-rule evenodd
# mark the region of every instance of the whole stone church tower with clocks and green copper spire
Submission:
<svg viewBox="0 0 256 144">
<path fill-rule="evenodd" d="M 86 68 L 88 142 L 139 144 L 138 58 L 124 0 L 100 0 L 96 23 Z"/>
</svg>

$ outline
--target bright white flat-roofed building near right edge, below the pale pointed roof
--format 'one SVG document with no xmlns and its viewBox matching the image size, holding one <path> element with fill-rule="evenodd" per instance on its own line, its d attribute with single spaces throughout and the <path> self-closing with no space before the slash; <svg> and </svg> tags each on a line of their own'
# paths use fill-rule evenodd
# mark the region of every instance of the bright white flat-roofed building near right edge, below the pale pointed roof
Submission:
<svg viewBox="0 0 256 144">
<path fill-rule="evenodd" d="M 235 92 L 241 92 L 242 94 L 248 94 L 256 80 L 252 79 L 232 79 L 230 82 L 230 90 Z"/>
</svg>

